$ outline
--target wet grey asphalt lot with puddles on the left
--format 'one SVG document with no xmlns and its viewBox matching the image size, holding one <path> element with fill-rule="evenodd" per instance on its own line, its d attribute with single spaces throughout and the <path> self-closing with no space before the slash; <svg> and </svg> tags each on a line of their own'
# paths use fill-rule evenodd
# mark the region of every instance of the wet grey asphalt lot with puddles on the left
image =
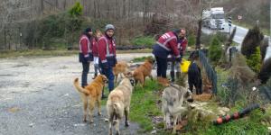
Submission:
<svg viewBox="0 0 271 135">
<path fill-rule="evenodd" d="M 122 54 L 129 60 L 150 54 Z M 94 114 L 94 123 L 85 123 L 82 103 L 72 85 L 81 75 L 78 56 L 0 59 L 0 135 L 85 135 L 107 134 L 107 112 Z M 89 80 L 93 74 L 90 65 Z M 131 122 L 122 134 L 137 134 Z"/>
</svg>

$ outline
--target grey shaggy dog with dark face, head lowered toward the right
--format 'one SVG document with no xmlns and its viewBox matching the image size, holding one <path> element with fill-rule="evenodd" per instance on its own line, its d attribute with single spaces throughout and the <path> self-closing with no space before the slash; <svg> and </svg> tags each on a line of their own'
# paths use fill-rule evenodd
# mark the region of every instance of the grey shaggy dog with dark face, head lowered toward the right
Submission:
<svg viewBox="0 0 271 135">
<path fill-rule="evenodd" d="M 192 103 L 192 92 L 181 85 L 169 85 L 162 94 L 162 112 L 164 114 L 164 127 L 170 129 L 173 117 L 173 134 L 176 133 L 176 122 L 187 108 L 183 103 Z"/>
</svg>

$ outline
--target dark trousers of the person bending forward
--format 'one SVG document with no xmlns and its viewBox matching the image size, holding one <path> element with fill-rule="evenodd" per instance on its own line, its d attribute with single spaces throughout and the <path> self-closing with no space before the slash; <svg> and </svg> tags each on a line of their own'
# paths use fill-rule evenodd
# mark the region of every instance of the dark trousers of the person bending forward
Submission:
<svg viewBox="0 0 271 135">
<path fill-rule="evenodd" d="M 167 59 L 166 58 L 159 58 L 156 57 L 156 62 L 157 62 L 157 77 L 162 76 L 166 77 L 166 69 L 167 69 Z"/>
</svg>

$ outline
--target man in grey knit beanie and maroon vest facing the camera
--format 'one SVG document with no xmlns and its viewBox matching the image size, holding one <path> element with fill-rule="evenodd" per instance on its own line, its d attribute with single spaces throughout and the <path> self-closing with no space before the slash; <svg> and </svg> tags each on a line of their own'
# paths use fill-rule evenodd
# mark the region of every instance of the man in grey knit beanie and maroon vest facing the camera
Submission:
<svg viewBox="0 0 271 135">
<path fill-rule="evenodd" d="M 107 24 L 104 36 L 98 39 L 98 64 L 101 67 L 103 75 L 108 79 L 108 90 L 111 92 L 114 89 L 114 74 L 112 68 L 117 64 L 116 58 L 116 42 L 114 39 L 115 27 L 112 24 Z M 103 92 L 102 97 L 105 98 Z"/>
</svg>

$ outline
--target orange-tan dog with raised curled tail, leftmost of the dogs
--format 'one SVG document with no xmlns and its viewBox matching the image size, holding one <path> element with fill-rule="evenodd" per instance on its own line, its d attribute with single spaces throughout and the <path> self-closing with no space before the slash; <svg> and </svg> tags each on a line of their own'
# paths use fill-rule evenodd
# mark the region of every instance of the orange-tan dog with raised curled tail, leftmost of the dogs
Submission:
<svg viewBox="0 0 271 135">
<path fill-rule="evenodd" d="M 89 106 L 89 121 L 93 122 L 92 112 L 94 110 L 96 102 L 98 102 L 98 115 L 101 115 L 101 94 L 106 82 L 107 76 L 98 75 L 91 84 L 83 88 L 79 85 L 79 78 L 74 79 L 73 85 L 76 87 L 77 91 L 79 91 L 83 102 L 83 121 L 87 121 L 87 109 Z"/>
</svg>

